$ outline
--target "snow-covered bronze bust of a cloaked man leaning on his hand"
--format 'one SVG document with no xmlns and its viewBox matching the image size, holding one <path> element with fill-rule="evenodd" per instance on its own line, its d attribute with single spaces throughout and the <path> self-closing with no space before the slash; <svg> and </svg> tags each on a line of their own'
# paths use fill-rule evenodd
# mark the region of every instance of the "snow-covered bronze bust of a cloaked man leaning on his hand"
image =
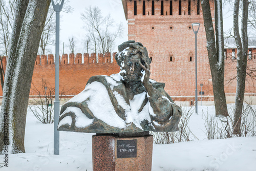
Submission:
<svg viewBox="0 0 256 171">
<path fill-rule="evenodd" d="M 147 50 L 126 41 L 115 56 L 121 71 L 93 76 L 86 88 L 60 111 L 58 130 L 84 133 L 177 131 L 181 109 L 164 91 L 164 83 L 150 79 Z"/>
</svg>

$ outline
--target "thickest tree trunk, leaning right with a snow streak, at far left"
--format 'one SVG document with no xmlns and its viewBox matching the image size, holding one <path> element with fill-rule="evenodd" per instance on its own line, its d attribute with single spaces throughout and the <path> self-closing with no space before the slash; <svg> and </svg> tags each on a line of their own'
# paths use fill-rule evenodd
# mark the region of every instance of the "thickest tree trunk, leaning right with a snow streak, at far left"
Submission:
<svg viewBox="0 0 256 171">
<path fill-rule="evenodd" d="M 25 153 L 28 98 L 39 41 L 50 3 L 50 0 L 17 1 L 1 109 L 1 116 L 5 113 L 9 115 L 12 153 Z"/>
</svg>

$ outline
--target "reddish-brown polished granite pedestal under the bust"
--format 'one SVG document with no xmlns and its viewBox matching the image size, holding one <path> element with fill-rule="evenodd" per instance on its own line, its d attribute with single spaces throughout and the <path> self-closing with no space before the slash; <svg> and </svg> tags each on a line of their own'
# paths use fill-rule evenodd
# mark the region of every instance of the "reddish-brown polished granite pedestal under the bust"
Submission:
<svg viewBox="0 0 256 171">
<path fill-rule="evenodd" d="M 94 171 L 151 171 L 153 136 L 94 135 Z"/>
</svg>

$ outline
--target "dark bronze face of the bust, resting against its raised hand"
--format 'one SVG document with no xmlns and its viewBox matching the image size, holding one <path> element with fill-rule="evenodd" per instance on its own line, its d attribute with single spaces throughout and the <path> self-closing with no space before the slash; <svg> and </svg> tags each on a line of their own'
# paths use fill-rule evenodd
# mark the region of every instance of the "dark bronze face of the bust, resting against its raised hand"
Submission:
<svg viewBox="0 0 256 171">
<path fill-rule="evenodd" d="M 124 59 L 124 70 L 126 71 L 126 77 L 129 81 L 139 81 L 141 80 L 141 66 L 139 64 L 141 62 L 141 54 L 137 53 L 136 55 L 132 55 L 130 58 L 126 57 Z"/>
</svg>

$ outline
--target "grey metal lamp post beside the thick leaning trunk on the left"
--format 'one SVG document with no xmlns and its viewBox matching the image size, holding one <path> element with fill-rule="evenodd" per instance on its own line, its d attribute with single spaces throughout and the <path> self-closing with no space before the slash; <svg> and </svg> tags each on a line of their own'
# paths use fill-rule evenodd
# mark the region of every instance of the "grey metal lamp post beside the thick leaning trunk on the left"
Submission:
<svg viewBox="0 0 256 171">
<path fill-rule="evenodd" d="M 52 6 L 56 12 L 56 39 L 55 39 L 55 100 L 54 100 L 54 141 L 53 141 L 53 154 L 59 155 L 59 132 L 57 131 L 59 121 L 59 12 L 62 9 L 64 0 L 61 4 L 54 4 Z"/>
</svg>

